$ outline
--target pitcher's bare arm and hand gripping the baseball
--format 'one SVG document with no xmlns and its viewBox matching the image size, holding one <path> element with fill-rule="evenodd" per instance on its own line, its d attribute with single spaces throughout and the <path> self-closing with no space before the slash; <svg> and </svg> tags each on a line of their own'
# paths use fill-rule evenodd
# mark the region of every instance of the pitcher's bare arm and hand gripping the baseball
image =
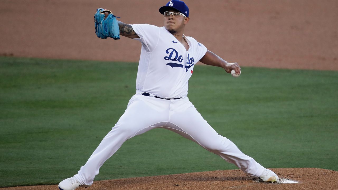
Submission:
<svg viewBox="0 0 338 190">
<path fill-rule="evenodd" d="M 206 65 L 222 67 L 227 73 L 231 73 L 231 70 L 235 70 L 236 74 L 241 73 L 241 68 L 237 63 L 230 64 L 209 50 L 207 50 L 207 53 L 199 61 Z"/>
</svg>

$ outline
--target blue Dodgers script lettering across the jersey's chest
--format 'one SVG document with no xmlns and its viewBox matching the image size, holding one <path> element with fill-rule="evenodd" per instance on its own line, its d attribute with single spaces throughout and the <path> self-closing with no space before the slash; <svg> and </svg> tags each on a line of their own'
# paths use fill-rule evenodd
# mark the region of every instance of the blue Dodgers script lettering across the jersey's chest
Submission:
<svg viewBox="0 0 338 190">
<path fill-rule="evenodd" d="M 169 55 L 165 56 L 164 60 L 170 60 L 170 61 L 175 61 L 175 62 L 178 61 L 178 63 L 167 63 L 167 65 L 169 65 L 171 68 L 174 68 L 174 67 L 183 68 L 183 64 L 179 64 L 179 63 L 182 63 L 182 61 L 183 61 L 182 55 L 178 55 L 178 52 L 174 48 L 167 49 L 166 53 L 169 54 Z M 194 57 L 190 57 L 190 55 L 188 53 L 187 63 L 186 63 L 186 66 L 185 66 L 186 72 L 188 72 L 189 68 L 194 65 L 194 62 L 195 62 Z"/>
</svg>

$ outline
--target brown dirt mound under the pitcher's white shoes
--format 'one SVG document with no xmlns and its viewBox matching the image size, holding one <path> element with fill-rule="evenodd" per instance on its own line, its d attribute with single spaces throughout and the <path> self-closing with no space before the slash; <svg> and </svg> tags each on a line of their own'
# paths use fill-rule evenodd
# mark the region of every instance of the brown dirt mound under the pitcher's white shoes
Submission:
<svg viewBox="0 0 338 190">
<path fill-rule="evenodd" d="M 241 170 L 218 170 L 186 174 L 137 177 L 95 181 L 91 187 L 78 190 L 334 190 L 338 189 L 338 172 L 319 168 L 275 168 L 280 179 L 298 183 L 259 182 Z M 288 179 L 288 180 L 286 180 Z M 56 190 L 57 185 L 0 188 L 0 190 Z"/>
</svg>

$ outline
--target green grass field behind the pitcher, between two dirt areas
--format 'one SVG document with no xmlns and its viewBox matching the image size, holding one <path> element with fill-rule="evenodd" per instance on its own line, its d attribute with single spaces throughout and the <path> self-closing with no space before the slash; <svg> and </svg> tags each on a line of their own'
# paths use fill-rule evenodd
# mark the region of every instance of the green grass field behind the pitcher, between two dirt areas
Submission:
<svg viewBox="0 0 338 190">
<path fill-rule="evenodd" d="M 137 64 L 0 57 L 0 187 L 74 175 L 135 93 Z M 197 65 L 189 98 L 267 168 L 338 170 L 338 72 Z M 165 129 L 125 142 L 95 180 L 237 169 Z"/>
</svg>

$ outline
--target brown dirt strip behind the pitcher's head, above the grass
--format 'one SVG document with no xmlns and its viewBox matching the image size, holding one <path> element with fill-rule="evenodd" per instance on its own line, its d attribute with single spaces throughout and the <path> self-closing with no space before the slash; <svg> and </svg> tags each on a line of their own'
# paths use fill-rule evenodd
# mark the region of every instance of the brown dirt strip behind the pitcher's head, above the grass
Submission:
<svg viewBox="0 0 338 190">
<path fill-rule="evenodd" d="M 1 0 L 0 56 L 138 62 L 141 44 L 95 35 L 94 13 L 163 26 L 167 1 Z M 337 0 L 185 0 L 185 34 L 241 66 L 338 70 Z M 102 47 L 107 47 L 103 49 Z"/>
</svg>

